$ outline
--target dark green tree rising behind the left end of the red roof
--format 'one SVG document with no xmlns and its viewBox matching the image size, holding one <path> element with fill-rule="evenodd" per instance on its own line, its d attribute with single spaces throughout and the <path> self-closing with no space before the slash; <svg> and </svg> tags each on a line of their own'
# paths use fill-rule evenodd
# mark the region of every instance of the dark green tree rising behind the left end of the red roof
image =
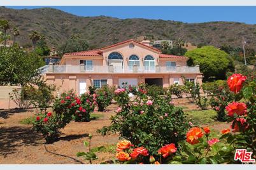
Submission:
<svg viewBox="0 0 256 170">
<path fill-rule="evenodd" d="M 85 51 L 89 48 L 89 44 L 85 39 L 72 38 L 68 39 L 59 47 L 60 55 L 77 51 Z"/>
</svg>

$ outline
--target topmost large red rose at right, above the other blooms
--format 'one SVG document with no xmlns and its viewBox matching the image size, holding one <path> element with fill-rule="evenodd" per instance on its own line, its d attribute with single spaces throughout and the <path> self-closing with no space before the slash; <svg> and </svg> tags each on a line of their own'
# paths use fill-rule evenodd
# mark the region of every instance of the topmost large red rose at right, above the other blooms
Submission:
<svg viewBox="0 0 256 170">
<path fill-rule="evenodd" d="M 229 89 L 234 93 L 238 93 L 243 87 L 243 82 L 246 81 L 246 76 L 242 74 L 233 74 L 227 79 Z"/>
</svg>

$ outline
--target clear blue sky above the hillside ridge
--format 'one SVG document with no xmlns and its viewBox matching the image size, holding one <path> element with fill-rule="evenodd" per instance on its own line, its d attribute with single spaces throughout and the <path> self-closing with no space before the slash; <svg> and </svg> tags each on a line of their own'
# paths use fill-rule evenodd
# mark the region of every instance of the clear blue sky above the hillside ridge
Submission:
<svg viewBox="0 0 256 170">
<path fill-rule="evenodd" d="M 225 1 L 225 0 L 224 0 Z M 43 6 L 7 6 L 33 9 Z M 148 18 L 187 23 L 232 21 L 256 24 L 256 6 L 47 6 L 78 16 Z"/>
</svg>

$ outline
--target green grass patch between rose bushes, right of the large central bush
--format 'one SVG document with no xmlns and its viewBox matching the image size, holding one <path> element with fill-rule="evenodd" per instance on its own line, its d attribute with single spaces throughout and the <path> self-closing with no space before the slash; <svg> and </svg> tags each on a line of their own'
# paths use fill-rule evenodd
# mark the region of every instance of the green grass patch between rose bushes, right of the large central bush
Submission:
<svg viewBox="0 0 256 170">
<path fill-rule="evenodd" d="M 192 122 L 194 125 L 203 125 L 210 124 L 211 122 L 215 122 L 217 112 L 215 110 L 190 110 L 186 111 L 188 121 Z"/>
</svg>

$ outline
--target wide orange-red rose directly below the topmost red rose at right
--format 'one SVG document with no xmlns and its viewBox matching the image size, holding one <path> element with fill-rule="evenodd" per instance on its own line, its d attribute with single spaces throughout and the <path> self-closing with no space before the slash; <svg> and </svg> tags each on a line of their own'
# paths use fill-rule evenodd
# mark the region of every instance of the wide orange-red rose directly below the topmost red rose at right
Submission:
<svg viewBox="0 0 256 170">
<path fill-rule="evenodd" d="M 225 107 L 225 109 L 227 110 L 227 115 L 233 117 L 234 114 L 237 115 L 244 115 L 246 114 L 246 105 L 245 103 L 238 103 L 233 101 L 232 103 L 230 103 L 229 105 L 227 105 L 227 107 Z"/>
</svg>

